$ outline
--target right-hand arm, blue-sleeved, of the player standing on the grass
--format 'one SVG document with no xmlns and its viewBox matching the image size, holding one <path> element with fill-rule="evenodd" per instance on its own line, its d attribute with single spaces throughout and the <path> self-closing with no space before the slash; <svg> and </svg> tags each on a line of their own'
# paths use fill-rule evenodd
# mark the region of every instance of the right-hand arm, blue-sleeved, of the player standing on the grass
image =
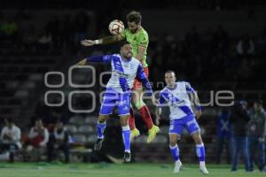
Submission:
<svg viewBox="0 0 266 177">
<path fill-rule="evenodd" d="M 195 89 L 192 88 L 190 83 L 186 82 L 185 88 L 186 88 L 186 91 L 191 95 L 192 104 L 195 106 L 195 110 L 196 110 L 196 118 L 199 119 L 202 113 L 199 96 L 197 92 L 195 91 Z"/>
</svg>

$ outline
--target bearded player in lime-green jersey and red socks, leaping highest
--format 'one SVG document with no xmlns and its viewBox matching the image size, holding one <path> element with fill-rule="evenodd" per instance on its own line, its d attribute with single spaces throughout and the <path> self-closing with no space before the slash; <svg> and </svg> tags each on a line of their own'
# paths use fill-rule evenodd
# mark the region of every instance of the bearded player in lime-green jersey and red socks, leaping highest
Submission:
<svg viewBox="0 0 266 177">
<path fill-rule="evenodd" d="M 141 19 L 142 16 L 140 12 L 129 12 L 127 15 L 129 27 L 126 28 L 120 35 L 111 35 L 95 41 L 85 40 L 82 41 L 82 45 L 91 46 L 95 44 L 107 44 L 126 39 L 133 47 L 133 57 L 137 58 L 137 60 L 141 62 L 144 67 L 145 75 L 148 77 L 149 70 L 146 63 L 146 56 L 149 36 L 145 29 L 141 26 Z M 134 81 L 133 90 L 134 93 L 136 93 L 132 96 L 133 103 L 135 104 L 138 112 L 140 112 L 142 119 L 145 121 L 146 127 L 149 129 L 147 142 L 153 142 L 155 135 L 160 131 L 160 129 L 159 127 L 153 125 L 153 119 L 149 109 L 142 98 L 143 88 L 139 81 Z M 139 135 L 139 131 L 135 126 L 134 112 L 132 107 L 130 107 L 129 127 L 131 129 L 131 139 Z"/>
</svg>

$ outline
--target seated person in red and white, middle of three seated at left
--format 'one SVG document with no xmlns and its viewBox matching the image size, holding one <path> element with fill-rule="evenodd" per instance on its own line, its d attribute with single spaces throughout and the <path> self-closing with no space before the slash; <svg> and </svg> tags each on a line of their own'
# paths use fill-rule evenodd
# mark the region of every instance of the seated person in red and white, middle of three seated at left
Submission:
<svg viewBox="0 0 266 177">
<path fill-rule="evenodd" d="M 49 141 L 49 133 L 46 127 L 43 127 L 43 120 L 36 119 L 35 127 L 32 127 L 28 134 L 29 145 L 27 152 L 31 152 L 31 158 L 40 160 L 43 152 L 46 151 L 47 142 Z"/>
</svg>

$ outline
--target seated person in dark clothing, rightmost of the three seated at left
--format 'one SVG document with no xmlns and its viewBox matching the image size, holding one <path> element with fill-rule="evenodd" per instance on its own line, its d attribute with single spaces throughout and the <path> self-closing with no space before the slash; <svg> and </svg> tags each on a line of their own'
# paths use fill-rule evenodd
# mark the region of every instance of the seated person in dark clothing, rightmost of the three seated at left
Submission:
<svg viewBox="0 0 266 177">
<path fill-rule="evenodd" d="M 64 124 L 59 121 L 54 129 L 52 140 L 48 145 L 48 160 L 52 161 L 56 157 L 59 150 L 62 150 L 65 155 L 65 162 L 69 162 L 70 136 L 64 127 Z"/>
</svg>

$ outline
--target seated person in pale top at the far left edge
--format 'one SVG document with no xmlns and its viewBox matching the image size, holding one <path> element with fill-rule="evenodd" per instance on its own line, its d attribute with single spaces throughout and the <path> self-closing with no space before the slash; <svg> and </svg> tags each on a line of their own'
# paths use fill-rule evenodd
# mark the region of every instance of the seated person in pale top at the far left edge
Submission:
<svg viewBox="0 0 266 177">
<path fill-rule="evenodd" d="M 14 124 L 13 119 L 6 119 L 6 126 L 1 131 L 0 151 L 2 155 L 9 157 L 9 161 L 14 161 L 15 150 L 21 149 L 20 127 Z"/>
</svg>

